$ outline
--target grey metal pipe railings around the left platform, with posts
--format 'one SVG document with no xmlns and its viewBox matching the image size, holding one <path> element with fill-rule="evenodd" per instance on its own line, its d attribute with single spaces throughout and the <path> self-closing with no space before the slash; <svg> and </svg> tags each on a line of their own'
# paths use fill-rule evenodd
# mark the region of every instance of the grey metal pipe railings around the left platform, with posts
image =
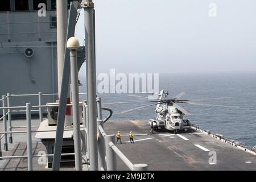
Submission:
<svg viewBox="0 0 256 182">
<path fill-rule="evenodd" d="M 83 94 L 84 93 L 80 93 Z M 0 139 L 0 160 L 1 159 L 16 159 L 16 158 L 27 158 L 28 163 L 28 170 L 33 169 L 32 165 L 32 159 L 38 158 L 42 156 L 53 156 L 53 154 L 47 154 L 47 155 L 32 155 L 32 133 L 42 133 L 42 132 L 49 132 L 49 131 L 56 131 L 56 130 L 40 130 L 40 131 L 33 131 L 31 130 L 33 127 L 39 127 L 39 126 L 32 126 L 31 125 L 31 113 L 32 111 L 38 111 L 39 112 L 39 122 L 43 121 L 43 108 L 48 106 L 59 106 L 56 105 L 42 105 L 42 96 L 51 96 L 56 94 L 43 94 L 42 92 L 39 92 L 38 94 L 10 94 L 7 93 L 7 96 L 2 96 L 0 101 L 2 101 L 2 107 L 0 109 L 3 110 L 3 116 L 0 118 L 0 120 L 3 120 L 3 128 L 4 131 L 0 132 L 0 138 L 4 138 L 4 150 L 8 150 L 8 142 L 7 142 L 7 135 L 9 135 L 9 143 L 13 143 L 13 134 L 20 134 L 20 133 L 26 133 L 27 134 L 27 155 L 22 156 L 2 156 L 2 149 L 1 149 L 1 139 Z M 10 105 L 10 97 L 27 97 L 27 96 L 38 96 L 38 104 L 37 106 L 32 106 L 30 103 L 27 103 L 26 106 L 11 106 Z M 7 106 L 6 106 L 7 101 Z M 133 164 L 130 162 L 130 160 L 118 149 L 117 146 L 115 146 L 115 136 L 114 135 L 107 135 L 104 131 L 104 121 L 108 121 L 108 119 L 111 117 L 112 111 L 109 108 L 101 107 L 101 97 L 97 97 L 97 130 L 98 130 L 98 138 L 97 138 L 97 150 L 98 150 L 98 169 L 101 171 L 114 171 L 117 170 L 117 156 L 122 160 L 125 165 L 131 169 L 136 171 L 144 171 L 147 170 L 147 164 Z M 67 104 L 67 106 L 72 106 L 72 104 Z M 110 114 L 107 118 L 102 119 L 102 110 L 108 110 L 110 111 Z M 11 117 L 12 113 L 14 112 L 20 112 L 20 111 L 26 111 L 26 126 L 12 126 Z M 84 131 L 84 152 L 85 152 L 85 158 L 83 158 L 84 163 L 92 162 L 92 158 L 90 158 L 90 140 L 89 140 L 89 131 L 90 128 L 88 127 L 88 105 L 86 101 L 82 101 L 82 119 L 84 123 L 84 129 L 81 129 L 81 131 Z M 8 123 L 9 126 L 7 128 L 7 117 L 8 117 Z M 21 129 L 26 128 L 27 130 L 23 131 L 13 131 L 12 129 Z M 64 131 L 73 131 L 73 129 L 65 129 Z M 2 135 L 2 136 L 1 136 Z M 75 153 L 71 154 L 61 154 L 61 156 L 67 156 L 67 155 L 75 155 Z M 94 154 L 92 154 L 94 155 Z"/>
</svg>

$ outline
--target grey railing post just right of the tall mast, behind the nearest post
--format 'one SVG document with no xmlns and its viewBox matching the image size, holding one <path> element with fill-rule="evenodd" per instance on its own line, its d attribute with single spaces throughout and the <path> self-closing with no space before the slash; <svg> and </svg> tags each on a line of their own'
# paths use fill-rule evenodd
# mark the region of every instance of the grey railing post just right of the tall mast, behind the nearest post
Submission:
<svg viewBox="0 0 256 182">
<path fill-rule="evenodd" d="M 103 120 L 97 120 L 97 125 L 103 129 Z M 101 132 L 98 130 L 98 168 L 104 168 L 106 170 L 106 147 L 105 140 Z"/>
</svg>

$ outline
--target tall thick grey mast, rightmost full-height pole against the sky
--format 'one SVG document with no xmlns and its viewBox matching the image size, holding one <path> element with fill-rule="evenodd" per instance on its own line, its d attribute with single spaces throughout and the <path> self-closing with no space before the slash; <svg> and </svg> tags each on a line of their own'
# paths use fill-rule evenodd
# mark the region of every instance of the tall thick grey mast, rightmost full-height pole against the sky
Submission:
<svg viewBox="0 0 256 182">
<path fill-rule="evenodd" d="M 96 60 L 95 60 L 95 30 L 94 30 L 94 3 L 84 0 L 84 25 L 85 25 L 85 52 L 86 52 L 86 79 L 87 100 L 89 117 L 89 150 L 90 170 L 98 170 L 97 151 L 97 103 L 96 103 Z"/>
</svg>

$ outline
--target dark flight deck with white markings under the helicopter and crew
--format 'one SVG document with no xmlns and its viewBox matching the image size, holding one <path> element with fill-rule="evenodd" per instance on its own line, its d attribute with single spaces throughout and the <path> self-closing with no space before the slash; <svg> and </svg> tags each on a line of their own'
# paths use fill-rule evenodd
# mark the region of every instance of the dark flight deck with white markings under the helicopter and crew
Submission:
<svg viewBox="0 0 256 182">
<path fill-rule="evenodd" d="M 123 136 L 123 144 L 118 148 L 131 160 L 132 163 L 148 164 L 149 170 L 255 170 L 256 155 L 245 152 L 230 144 L 201 131 L 189 130 L 179 135 L 171 135 L 164 131 L 150 133 L 148 122 L 108 122 L 105 125 L 106 133 L 114 134 L 121 131 L 127 135 L 146 134 L 135 136 L 139 140 L 134 144 L 127 143 L 129 137 Z M 163 135 L 166 134 L 166 135 Z M 170 136 L 167 136 L 170 135 Z M 151 138 L 151 139 L 149 139 Z M 145 139 L 145 140 L 140 140 Z M 195 144 L 216 151 L 217 164 L 209 164 L 209 151 L 204 151 Z M 118 159 L 118 169 L 127 170 Z"/>
</svg>

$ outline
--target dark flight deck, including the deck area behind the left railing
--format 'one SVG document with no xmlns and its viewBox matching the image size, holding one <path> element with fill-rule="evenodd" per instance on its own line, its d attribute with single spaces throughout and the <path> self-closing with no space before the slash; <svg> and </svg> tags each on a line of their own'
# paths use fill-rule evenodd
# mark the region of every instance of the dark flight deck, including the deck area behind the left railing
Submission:
<svg viewBox="0 0 256 182">
<path fill-rule="evenodd" d="M 33 122 L 34 125 L 38 123 L 35 120 Z M 105 123 L 104 129 L 107 134 L 116 134 L 117 131 L 121 131 L 122 144 L 118 143 L 117 147 L 132 163 L 148 164 L 148 169 L 152 171 L 256 169 L 256 155 L 221 142 L 201 131 L 189 129 L 177 135 L 164 131 L 149 134 L 150 127 L 146 121 L 110 121 Z M 15 131 L 17 130 L 24 129 Z M 134 144 L 129 141 L 130 131 L 134 134 Z M 39 139 L 33 137 L 33 140 L 33 155 L 38 155 L 39 151 L 46 151 L 46 147 Z M 10 150 L 3 151 L 3 156 L 26 155 L 26 147 L 26 134 L 16 134 L 14 144 L 9 144 Z M 216 152 L 216 164 L 209 164 L 210 151 Z M 118 157 L 117 163 L 118 170 L 129 170 Z M 46 165 L 39 164 L 38 158 L 33 158 L 33 168 L 34 170 L 51 170 Z M 27 159 L 0 160 L 0 170 L 27 170 Z M 63 167 L 61 170 L 73 170 L 73 167 Z"/>
</svg>

